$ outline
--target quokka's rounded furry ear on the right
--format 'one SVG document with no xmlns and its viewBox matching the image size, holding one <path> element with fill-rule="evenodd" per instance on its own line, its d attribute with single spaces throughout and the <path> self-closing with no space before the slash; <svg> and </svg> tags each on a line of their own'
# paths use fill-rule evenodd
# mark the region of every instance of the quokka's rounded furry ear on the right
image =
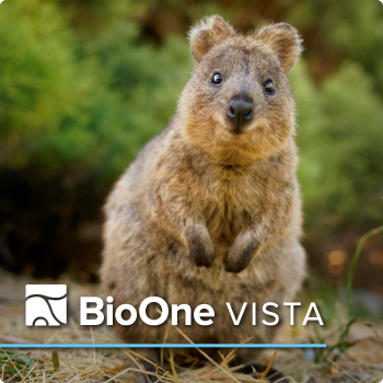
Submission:
<svg viewBox="0 0 383 383">
<path fill-rule="evenodd" d="M 278 23 L 265 26 L 256 34 L 256 38 L 267 44 L 278 56 L 286 72 L 288 72 L 301 55 L 302 39 L 290 24 Z"/>
</svg>

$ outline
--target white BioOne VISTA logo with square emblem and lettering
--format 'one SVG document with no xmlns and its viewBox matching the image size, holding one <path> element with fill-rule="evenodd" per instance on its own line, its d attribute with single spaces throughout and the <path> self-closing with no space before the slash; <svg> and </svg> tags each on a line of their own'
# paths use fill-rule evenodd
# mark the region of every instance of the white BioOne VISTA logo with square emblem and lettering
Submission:
<svg viewBox="0 0 383 383">
<path fill-rule="evenodd" d="M 67 323 L 67 286 L 66 285 L 27 285 L 25 288 L 25 324 L 26 326 L 59 326 Z M 97 326 L 104 323 L 112 326 L 114 321 L 123 326 L 131 326 L 140 320 L 150 326 L 159 326 L 171 317 L 172 325 L 178 325 L 178 313 L 184 312 L 185 325 L 192 325 L 193 318 L 200 326 L 210 326 L 214 318 L 214 309 L 209 304 L 199 304 L 194 310 L 188 304 L 171 304 L 160 297 L 148 297 L 140 304 L 138 310 L 131 304 L 120 304 L 115 307 L 113 297 L 106 298 L 106 306 L 104 301 L 98 297 L 80 297 L 80 325 Z M 249 311 L 252 315 L 252 324 L 257 325 L 257 313 L 263 314 L 262 322 L 265 326 L 275 326 L 279 323 L 279 310 L 290 311 L 290 325 L 294 325 L 294 309 L 302 305 L 301 302 L 285 302 L 277 304 L 275 302 L 263 303 L 257 307 L 256 302 L 243 302 L 241 310 L 236 305 L 236 313 L 230 302 L 225 303 L 228 314 L 235 326 L 241 324 L 244 312 Z M 160 317 L 151 318 L 153 310 L 149 305 L 160 305 Z M 234 305 L 235 307 L 235 305 Z M 272 307 L 270 311 L 270 307 Z M 289 307 L 289 309 L 288 309 Z M 258 310 L 257 310 L 258 309 Z M 276 312 L 277 311 L 277 312 Z M 149 312 L 149 313 L 148 313 Z M 311 314 L 314 313 L 314 316 Z M 155 312 L 154 312 L 155 315 Z M 266 321 L 266 316 L 272 317 L 272 321 Z M 158 316 L 158 315 L 156 315 Z M 321 314 L 315 302 L 311 302 L 306 314 L 302 322 L 305 326 L 309 321 L 318 322 L 323 326 Z"/>
</svg>

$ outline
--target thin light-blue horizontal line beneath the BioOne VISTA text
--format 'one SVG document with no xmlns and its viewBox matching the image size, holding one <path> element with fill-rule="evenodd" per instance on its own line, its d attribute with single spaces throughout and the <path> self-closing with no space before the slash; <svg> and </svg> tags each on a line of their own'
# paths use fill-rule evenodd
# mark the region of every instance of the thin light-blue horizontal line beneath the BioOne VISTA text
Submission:
<svg viewBox="0 0 383 383">
<path fill-rule="evenodd" d="M 0 348 L 325 348 L 326 344 L 0 344 Z"/>
</svg>

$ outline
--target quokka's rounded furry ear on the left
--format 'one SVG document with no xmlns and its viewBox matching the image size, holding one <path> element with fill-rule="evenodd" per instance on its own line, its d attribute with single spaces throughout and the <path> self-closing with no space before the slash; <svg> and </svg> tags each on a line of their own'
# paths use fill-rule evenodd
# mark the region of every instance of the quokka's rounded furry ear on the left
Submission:
<svg viewBox="0 0 383 383">
<path fill-rule="evenodd" d="M 200 61 L 211 47 L 235 35 L 235 30 L 221 16 L 202 19 L 189 31 L 190 49 L 196 61 Z"/>
</svg>

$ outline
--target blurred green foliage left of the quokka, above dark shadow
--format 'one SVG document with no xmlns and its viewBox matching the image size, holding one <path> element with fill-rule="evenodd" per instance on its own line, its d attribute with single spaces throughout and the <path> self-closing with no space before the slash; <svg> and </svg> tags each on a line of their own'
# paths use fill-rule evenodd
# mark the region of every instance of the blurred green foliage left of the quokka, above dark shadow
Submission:
<svg viewBox="0 0 383 383">
<path fill-rule="evenodd" d="M 173 114 L 187 43 L 139 45 L 134 24 L 115 22 L 80 44 L 53 2 L 1 7 L 0 165 L 121 172 Z"/>
</svg>

